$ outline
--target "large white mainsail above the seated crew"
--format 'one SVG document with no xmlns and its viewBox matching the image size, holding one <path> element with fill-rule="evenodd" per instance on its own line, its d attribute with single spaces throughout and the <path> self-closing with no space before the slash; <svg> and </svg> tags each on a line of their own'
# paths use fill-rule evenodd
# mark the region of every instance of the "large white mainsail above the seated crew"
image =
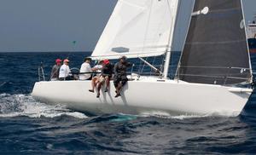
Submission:
<svg viewBox="0 0 256 155">
<path fill-rule="evenodd" d="M 170 49 L 178 0 L 119 0 L 93 59 L 163 55 Z"/>
</svg>

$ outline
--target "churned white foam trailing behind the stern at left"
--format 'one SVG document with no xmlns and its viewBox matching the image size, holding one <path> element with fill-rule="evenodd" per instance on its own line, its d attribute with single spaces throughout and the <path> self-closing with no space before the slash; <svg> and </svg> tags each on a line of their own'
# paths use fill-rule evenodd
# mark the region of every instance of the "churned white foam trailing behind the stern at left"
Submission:
<svg viewBox="0 0 256 155">
<path fill-rule="evenodd" d="M 35 101 L 31 95 L 0 95 L 0 117 L 12 118 L 26 116 L 29 118 L 55 118 L 60 116 L 88 118 L 84 113 L 72 112 L 64 106 L 49 106 Z"/>
</svg>

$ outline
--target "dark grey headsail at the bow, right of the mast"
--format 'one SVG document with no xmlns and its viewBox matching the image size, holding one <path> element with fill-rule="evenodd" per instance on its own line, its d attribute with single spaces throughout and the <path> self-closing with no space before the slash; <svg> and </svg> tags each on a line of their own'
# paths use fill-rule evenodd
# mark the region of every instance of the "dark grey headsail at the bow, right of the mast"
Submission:
<svg viewBox="0 0 256 155">
<path fill-rule="evenodd" d="M 195 0 L 177 77 L 210 84 L 251 80 L 241 0 Z"/>
</svg>

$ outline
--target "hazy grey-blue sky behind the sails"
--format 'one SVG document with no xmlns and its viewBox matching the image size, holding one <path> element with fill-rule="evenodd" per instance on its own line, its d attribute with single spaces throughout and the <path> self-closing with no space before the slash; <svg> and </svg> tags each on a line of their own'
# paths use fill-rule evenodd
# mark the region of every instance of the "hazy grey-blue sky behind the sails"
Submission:
<svg viewBox="0 0 256 155">
<path fill-rule="evenodd" d="M 117 0 L 0 0 L 0 52 L 92 51 Z M 182 0 L 174 50 L 180 50 L 193 0 Z M 256 0 L 243 0 L 246 20 Z M 73 46 L 73 41 L 77 41 Z"/>
</svg>

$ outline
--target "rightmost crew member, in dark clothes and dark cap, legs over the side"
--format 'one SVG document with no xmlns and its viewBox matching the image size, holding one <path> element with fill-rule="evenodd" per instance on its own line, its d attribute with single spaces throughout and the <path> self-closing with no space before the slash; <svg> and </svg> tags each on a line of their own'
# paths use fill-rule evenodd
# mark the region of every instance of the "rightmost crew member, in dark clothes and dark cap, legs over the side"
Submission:
<svg viewBox="0 0 256 155">
<path fill-rule="evenodd" d="M 119 58 L 119 62 L 117 62 L 113 67 L 114 77 L 113 84 L 116 89 L 116 95 L 114 97 L 119 97 L 122 88 L 125 83 L 127 83 L 128 78 L 126 75 L 127 68 L 131 67 L 132 64 L 127 61 L 126 56 L 122 56 Z"/>
</svg>

